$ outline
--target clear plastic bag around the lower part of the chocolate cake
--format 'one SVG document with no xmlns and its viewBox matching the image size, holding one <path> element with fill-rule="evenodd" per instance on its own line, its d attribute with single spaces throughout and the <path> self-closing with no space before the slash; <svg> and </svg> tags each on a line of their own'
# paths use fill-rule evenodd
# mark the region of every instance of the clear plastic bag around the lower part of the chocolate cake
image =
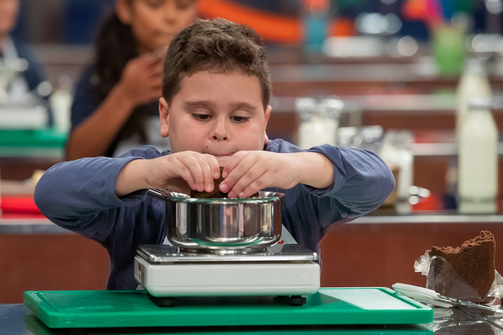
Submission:
<svg viewBox="0 0 503 335">
<path fill-rule="evenodd" d="M 426 288 L 459 300 L 499 305 L 503 299 L 503 277 L 494 270 L 494 281 L 483 297 L 443 257 L 430 257 L 430 250 L 414 262 L 415 272 L 426 276 Z"/>
</svg>

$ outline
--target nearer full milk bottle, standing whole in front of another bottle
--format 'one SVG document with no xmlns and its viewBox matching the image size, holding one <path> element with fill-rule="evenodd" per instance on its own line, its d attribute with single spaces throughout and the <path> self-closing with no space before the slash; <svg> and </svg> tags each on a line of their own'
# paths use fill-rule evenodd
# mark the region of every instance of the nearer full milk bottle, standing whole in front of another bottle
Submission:
<svg viewBox="0 0 503 335">
<path fill-rule="evenodd" d="M 498 137 L 490 98 L 468 103 L 459 134 L 458 209 L 461 213 L 494 213 L 498 187 Z"/>
</svg>

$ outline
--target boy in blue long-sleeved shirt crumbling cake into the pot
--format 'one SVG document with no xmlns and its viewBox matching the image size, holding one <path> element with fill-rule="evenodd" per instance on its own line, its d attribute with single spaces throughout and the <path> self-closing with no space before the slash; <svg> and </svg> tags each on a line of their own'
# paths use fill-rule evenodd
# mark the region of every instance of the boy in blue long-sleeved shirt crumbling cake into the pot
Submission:
<svg viewBox="0 0 503 335">
<path fill-rule="evenodd" d="M 268 141 L 270 95 L 260 36 L 222 19 L 197 21 L 173 39 L 164 63 L 161 135 L 173 152 L 146 146 L 59 163 L 40 179 L 35 202 L 57 225 L 108 249 L 108 289 L 136 288 L 137 246 L 164 240 L 164 203 L 146 189 L 212 191 L 219 166 L 229 197 L 285 193 L 283 235 L 319 252 L 329 227 L 377 208 L 394 179 L 372 152 Z"/>
</svg>

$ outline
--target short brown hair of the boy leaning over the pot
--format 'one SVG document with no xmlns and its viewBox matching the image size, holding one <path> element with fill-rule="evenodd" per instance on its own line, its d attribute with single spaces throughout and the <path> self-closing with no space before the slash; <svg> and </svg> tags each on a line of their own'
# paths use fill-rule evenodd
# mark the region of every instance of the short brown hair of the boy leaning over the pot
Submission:
<svg viewBox="0 0 503 335">
<path fill-rule="evenodd" d="M 271 75 L 260 35 L 224 19 L 197 20 L 171 41 L 164 61 L 162 96 L 171 103 L 185 76 L 201 70 L 241 71 L 256 76 L 264 108 L 271 97 Z"/>
</svg>

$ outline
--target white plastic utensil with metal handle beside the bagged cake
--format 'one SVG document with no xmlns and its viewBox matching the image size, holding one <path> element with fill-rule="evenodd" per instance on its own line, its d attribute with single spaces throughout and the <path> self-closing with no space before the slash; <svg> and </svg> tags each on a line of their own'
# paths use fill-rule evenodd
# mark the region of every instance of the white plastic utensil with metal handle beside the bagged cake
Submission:
<svg viewBox="0 0 503 335">
<path fill-rule="evenodd" d="M 434 290 L 425 287 L 396 283 L 391 286 L 396 292 L 410 297 L 416 301 L 426 302 L 439 307 L 467 306 L 491 312 L 503 313 L 503 309 L 485 306 L 469 301 L 458 300 L 440 295 Z"/>
</svg>

